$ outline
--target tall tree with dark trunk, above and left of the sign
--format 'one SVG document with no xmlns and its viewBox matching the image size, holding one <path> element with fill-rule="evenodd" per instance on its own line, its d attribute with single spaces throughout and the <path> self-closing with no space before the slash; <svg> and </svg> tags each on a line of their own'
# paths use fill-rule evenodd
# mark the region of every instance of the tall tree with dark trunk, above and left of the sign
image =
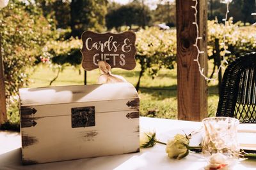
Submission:
<svg viewBox="0 0 256 170">
<path fill-rule="evenodd" d="M 44 11 L 44 16 L 51 18 L 57 28 L 72 29 L 72 36 L 80 37 L 88 29 L 105 31 L 107 0 L 35 0 Z"/>
</svg>

